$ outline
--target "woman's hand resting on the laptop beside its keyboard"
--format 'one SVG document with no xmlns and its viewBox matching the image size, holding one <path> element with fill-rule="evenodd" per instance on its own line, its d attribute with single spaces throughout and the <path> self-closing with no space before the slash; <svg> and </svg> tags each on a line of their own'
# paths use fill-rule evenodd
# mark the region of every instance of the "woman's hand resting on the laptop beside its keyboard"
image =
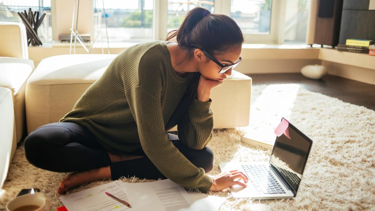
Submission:
<svg viewBox="0 0 375 211">
<path fill-rule="evenodd" d="M 240 178 L 243 180 L 236 180 L 237 178 Z M 240 172 L 238 170 L 233 170 L 229 172 L 221 172 L 220 174 L 216 175 L 214 177 L 216 181 L 216 190 L 221 191 L 224 190 L 228 187 L 232 187 L 234 185 L 240 185 L 243 187 L 247 187 L 248 185 L 246 184 L 249 181 L 249 178 L 246 174 L 243 172 Z M 212 184 L 211 191 L 215 191 L 215 184 Z"/>
</svg>

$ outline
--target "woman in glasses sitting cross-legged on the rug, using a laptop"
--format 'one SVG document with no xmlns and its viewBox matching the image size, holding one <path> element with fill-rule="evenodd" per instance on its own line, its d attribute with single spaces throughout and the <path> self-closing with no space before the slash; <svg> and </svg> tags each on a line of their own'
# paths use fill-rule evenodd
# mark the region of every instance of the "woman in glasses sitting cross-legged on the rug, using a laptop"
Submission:
<svg viewBox="0 0 375 211">
<path fill-rule="evenodd" d="M 121 52 L 58 123 L 39 127 L 24 142 L 34 166 L 68 175 L 57 189 L 125 177 L 166 179 L 188 189 L 220 191 L 248 177 L 214 178 L 211 89 L 241 60 L 243 36 L 225 15 L 197 7 L 178 30 L 177 43 L 141 43 Z M 166 133 L 177 125 L 178 136 Z M 243 180 L 243 181 L 240 181 Z"/>
</svg>

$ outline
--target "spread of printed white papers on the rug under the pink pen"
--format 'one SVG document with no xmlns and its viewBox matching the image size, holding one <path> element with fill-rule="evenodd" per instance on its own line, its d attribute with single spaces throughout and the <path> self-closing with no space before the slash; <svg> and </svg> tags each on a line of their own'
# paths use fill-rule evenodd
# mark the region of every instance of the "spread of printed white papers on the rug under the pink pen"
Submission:
<svg viewBox="0 0 375 211">
<path fill-rule="evenodd" d="M 115 201 L 105 192 L 129 202 L 132 208 Z M 118 180 L 62 196 L 60 200 L 69 211 L 217 211 L 225 198 L 186 192 L 171 180 L 150 183 L 123 183 Z"/>
</svg>

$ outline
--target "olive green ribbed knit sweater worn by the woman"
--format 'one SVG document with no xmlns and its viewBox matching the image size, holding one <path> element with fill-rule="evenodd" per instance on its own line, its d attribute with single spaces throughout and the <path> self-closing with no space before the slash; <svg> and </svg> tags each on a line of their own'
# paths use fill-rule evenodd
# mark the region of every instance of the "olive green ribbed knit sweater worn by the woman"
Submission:
<svg viewBox="0 0 375 211">
<path fill-rule="evenodd" d="M 204 148 L 212 139 L 211 99 L 187 97 L 196 73 L 177 75 L 166 43 L 141 43 L 121 52 L 60 122 L 85 126 L 111 153 L 142 147 L 167 178 L 205 193 L 212 178 L 178 151 L 166 131 L 177 124 L 180 141 L 192 149 Z"/>
</svg>

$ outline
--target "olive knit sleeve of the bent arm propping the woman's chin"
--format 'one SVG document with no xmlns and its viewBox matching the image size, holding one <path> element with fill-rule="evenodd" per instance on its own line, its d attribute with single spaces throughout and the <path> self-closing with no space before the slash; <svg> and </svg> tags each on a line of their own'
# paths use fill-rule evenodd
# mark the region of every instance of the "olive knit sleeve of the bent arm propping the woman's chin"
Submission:
<svg viewBox="0 0 375 211">
<path fill-rule="evenodd" d="M 178 138 L 194 150 L 203 149 L 213 137 L 211 102 L 211 98 L 208 102 L 201 102 L 195 95 L 190 108 L 177 124 Z"/>
</svg>

